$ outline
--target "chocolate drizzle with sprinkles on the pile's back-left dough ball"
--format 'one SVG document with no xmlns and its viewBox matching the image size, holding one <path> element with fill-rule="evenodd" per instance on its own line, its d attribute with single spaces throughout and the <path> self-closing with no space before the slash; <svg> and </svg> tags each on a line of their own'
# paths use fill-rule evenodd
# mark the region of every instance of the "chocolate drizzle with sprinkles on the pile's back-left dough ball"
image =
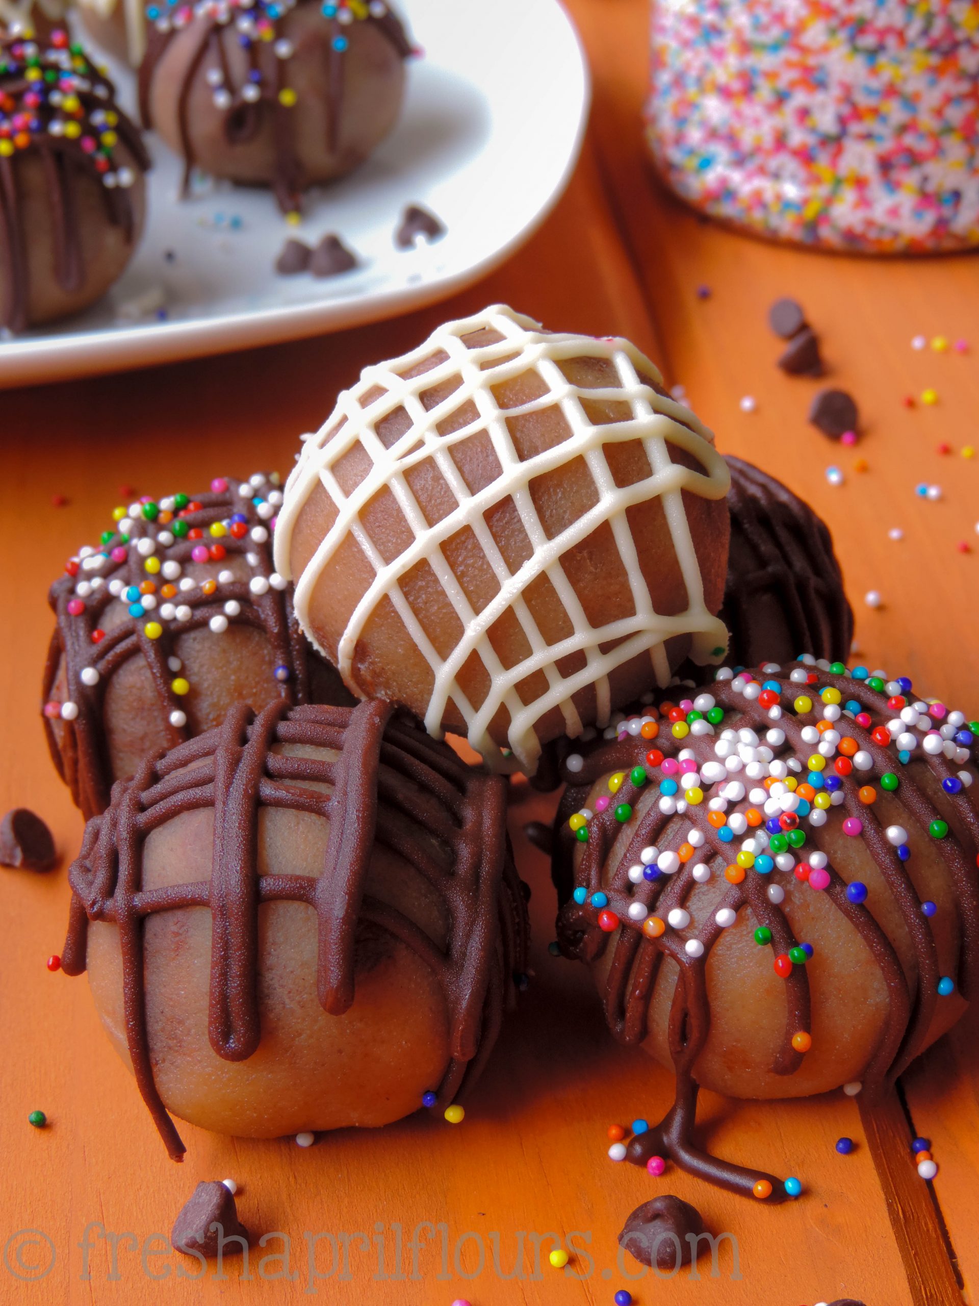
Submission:
<svg viewBox="0 0 979 1306">
<path fill-rule="evenodd" d="M 104 811 L 108 806 L 115 778 L 103 718 L 106 686 L 112 675 L 129 658 L 144 658 L 157 690 L 167 746 L 174 747 L 184 742 L 192 730 L 187 722 L 175 724 L 179 716 L 174 720 L 174 713 L 183 716 L 187 713 L 181 709 L 184 700 L 172 687 L 175 677 L 168 665 L 170 658 L 174 657 L 183 633 L 206 628 L 215 618 L 218 620 L 225 618 L 227 603 L 238 606 L 238 613 L 227 616 L 230 624 L 239 623 L 260 629 L 268 637 L 277 666 L 277 679 L 269 686 L 270 697 L 275 695 L 288 705 L 308 703 L 315 696 L 320 697 L 321 693 L 317 691 L 324 688 L 319 683 L 313 687 L 311 675 L 317 680 L 329 675 L 330 683 L 326 686 L 329 697 L 341 703 L 351 701 L 335 673 L 319 658 L 299 629 L 292 615 L 291 588 L 285 582 L 281 582 L 281 588 L 275 588 L 279 581 L 272 565 L 270 530 L 264 525 L 256 508 L 256 500 L 261 505 L 257 487 L 247 481 L 239 483 L 231 478 L 221 479 L 226 481 L 226 490 L 197 495 L 185 508 L 174 513 L 172 520 L 166 520 L 171 516 L 166 512 L 155 520 L 145 520 L 138 515 L 132 517 L 125 533 L 127 543 L 121 543 L 121 535 L 114 537 L 101 552 L 91 550 L 87 558 L 81 559 L 82 569 L 77 575 L 65 575 L 51 586 L 48 602 L 55 611 L 57 624 L 51 636 L 42 686 L 44 729 L 55 767 L 86 818 Z M 266 483 L 264 475 L 260 479 Z M 265 488 L 269 488 L 268 483 Z M 265 503 L 268 504 L 268 499 Z M 214 522 L 225 522 L 232 517 L 239 518 L 247 526 L 247 532 L 240 538 L 230 532 L 218 539 L 211 538 L 209 528 Z M 187 535 L 172 538 L 174 521 L 187 526 Z M 163 535 L 164 532 L 167 535 Z M 178 590 L 174 602 L 188 609 L 185 620 L 166 619 L 159 606 L 146 611 L 145 616 L 127 614 L 124 598 L 116 597 L 111 586 L 114 581 L 119 581 L 123 586 L 138 588 L 148 580 L 146 558 L 140 552 L 140 542 L 145 539 L 154 542 L 155 556 L 174 562 L 181 569 L 193 563 L 194 549 L 201 547 L 205 541 L 210 546 L 209 552 L 219 545 L 222 558 L 239 555 L 248 560 L 251 577 L 200 582 L 192 589 Z M 159 549 L 155 549 L 157 545 Z M 121 550 L 121 560 L 114 556 L 117 549 Z M 86 571 L 89 560 L 97 562 L 98 565 Z M 210 562 L 214 571 L 218 571 L 219 565 L 221 559 Z M 85 594 L 84 611 L 72 613 L 68 605 L 78 603 L 78 582 L 85 577 L 90 577 L 89 585 L 94 577 L 98 577 L 101 584 Z M 253 585 L 264 588 L 264 593 L 256 593 Z M 99 627 L 111 606 L 115 609 L 111 628 L 101 636 Z M 162 632 L 157 639 L 150 639 L 146 626 L 154 619 L 162 627 Z M 222 639 L 222 635 L 214 637 Z M 86 684 L 84 674 L 91 677 L 93 673 L 97 673 L 97 682 Z M 59 705 L 52 701 L 61 679 L 67 682 L 73 716 L 65 714 L 67 704 Z M 55 716 L 57 710 L 61 713 L 60 717 Z"/>
</svg>

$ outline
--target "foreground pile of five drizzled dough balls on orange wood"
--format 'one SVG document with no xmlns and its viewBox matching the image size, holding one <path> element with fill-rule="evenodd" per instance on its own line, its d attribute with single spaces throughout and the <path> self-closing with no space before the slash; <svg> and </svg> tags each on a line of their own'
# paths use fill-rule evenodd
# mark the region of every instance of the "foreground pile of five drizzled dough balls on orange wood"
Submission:
<svg viewBox="0 0 979 1306">
<path fill-rule="evenodd" d="M 285 486 L 117 507 L 51 605 L 64 968 L 174 1156 L 456 1104 L 526 983 L 513 773 L 563 786 L 561 951 L 676 1072 L 630 1160 L 778 1202 L 698 1088 L 872 1097 L 965 1008 L 979 726 L 845 663 L 825 525 L 628 341 L 446 323 Z"/>
</svg>

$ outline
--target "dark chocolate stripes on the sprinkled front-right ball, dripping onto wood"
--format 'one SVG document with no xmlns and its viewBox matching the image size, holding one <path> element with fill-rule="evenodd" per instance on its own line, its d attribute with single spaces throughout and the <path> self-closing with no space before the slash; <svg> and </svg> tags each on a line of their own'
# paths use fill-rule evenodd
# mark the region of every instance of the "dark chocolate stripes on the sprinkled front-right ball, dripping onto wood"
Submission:
<svg viewBox="0 0 979 1306">
<path fill-rule="evenodd" d="M 805 667 L 805 670 L 813 671 L 815 669 Z M 714 695 L 717 704 L 727 713 L 717 727 L 718 734 L 723 729 L 739 730 L 745 726 L 764 731 L 777 725 L 785 731 L 786 743 L 779 746 L 775 754 L 785 752 L 804 759 L 812 752 L 813 746 L 803 742 L 803 725 L 792 714 L 791 703 L 800 693 L 811 693 L 818 707 L 818 692 L 826 686 L 838 688 L 843 701 L 852 699 L 860 703 L 864 710 L 872 713 L 875 718 L 872 727 L 886 724 L 895 716 L 888 708 L 886 696 L 871 690 L 864 682 L 818 670 L 816 671 L 817 683 L 807 686 L 791 682 L 788 671 L 791 671 L 791 666 L 774 674 L 758 673 L 757 675 L 758 680 L 775 680 L 781 686 L 783 714 L 778 722 L 770 721 L 757 701 L 751 703 L 738 693 L 731 687 L 730 680 L 718 680 L 706 687 Z M 812 724 L 816 720 L 808 713 L 805 716 L 805 724 Z M 872 1102 L 882 1097 L 886 1087 L 897 1079 L 922 1049 L 937 1002 L 939 966 L 935 940 L 928 921 L 920 910 L 922 902 L 905 863 L 897 855 L 897 849 L 888 841 L 875 815 L 873 806 L 862 803 L 858 790 L 868 781 L 878 780 L 885 771 L 897 771 L 901 777 L 899 799 L 919 829 L 927 833 L 932 820 L 937 818 L 948 820 L 949 833 L 941 840 L 941 853 L 956 891 L 956 910 L 962 940 L 957 983 L 966 999 L 971 998 L 975 989 L 975 968 L 979 961 L 979 889 L 974 870 L 979 850 L 979 814 L 976 814 L 974 801 L 966 788 L 954 795 L 939 789 L 941 808 L 937 808 L 922 788 L 915 784 L 915 767 L 923 764 L 928 767 L 939 784 L 953 776 L 957 768 L 950 767 L 945 756 L 931 756 L 919 748 L 914 754 L 912 763 L 902 767 L 886 747 L 873 741 L 871 730 L 859 726 L 851 717 L 842 716 L 837 727 L 841 734 L 852 737 L 860 750 L 871 754 L 873 761 L 871 771 L 854 771 L 848 776 L 839 777 L 843 793 L 842 807 L 845 815 L 859 816 L 863 823 L 860 837 L 901 910 L 916 959 L 915 981 L 914 985 L 909 985 L 893 944 L 868 906 L 850 902 L 846 896 L 846 882 L 837 871 L 828 867 L 830 884 L 825 892 L 867 944 L 888 990 L 888 1017 L 880 1042 L 862 1076 L 865 1100 Z M 689 748 L 698 765 L 702 765 L 705 761 L 715 760 L 715 738 L 717 735 L 687 735 L 677 741 L 672 734 L 660 730 L 655 739 L 655 747 L 664 756 L 676 756 L 681 750 Z M 607 773 L 628 772 L 636 765 L 644 765 L 649 747 L 650 743 L 641 737 L 628 737 L 615 742 L 598 741 L 582 750 L 583 767 L 580 772 L 570 772 L 567 763 L 563 764 L 563 778 L 569 788 L 565 790 L 557 814 L 552 863 L 555 884 L 561 901 L 557 917 L 561 949 L 567 956 L 594 961 L 610 946 L 611 935 L 599 929 L 595 908 L 586 904 L 577 905 L 570 899 L 572 888 L 576 884 L 583 885 L 589 895 L 603 889 L 608 896 L 608 908 L 615 912 L 623 926 L 615 942 L 615 952 L 606 983 L 606 1016 L 616 1038 L 628 1043 L 642 1042 L 646 1037 L 646 1017 L 662 957 L 670 956 L 679 968 L 667 1030 L 670 1054 L 676 1070 L 675 1105 L 655 1130 L 632 1140 L 628 1149 L 629 1160 L 645 1164 L 650 1156 L 657 1153 L 668 1155 L 677 1165 L 691 1170 L 691 1173 L 745 1195 L 751 1194 L 757 1179 L 769 1179 L 773 1185 L 773 1194 L 768 1202 L 783 1200 L 782 1183 L 773 1175 L 719 1161 L 698 1152 L 691 1144 L 697 1100 L 693 1070 L 710 1030 L 706 963 L 713 943 L 722 932 L 714 917 L 721 906 L 728 906 L 736 912 L 748 905 L 758 923 L 766 925 L 771 930 L 773 952 L 775 955 L 787 952 L 796 940 L 783 908 L 768 899 L 765 880 L 768 883 L 773 883 L 773 880 L 749 870 L 741 884 L 731 885 L 724 899 L 711 908 L 710 916 L 700 931 L 667 929 L 658 939 L 650 939 L 642 934 L 641 922 L 629 919 L 629 904 L 642 902 L 649 908 L 650 914 L 655 912 L 666 918 L 674 906 L 684 902 L 693 888 L 693 861 L 704 861 L 710 865 L 714 874 L 721 874 L 731 859 L 736 844 L 723 844 L 719 840 L 717 831 L 707 821 L 706 803 L 688 807 L 681 818 L 660 812 L 658 804 L 654 803 L 636 821 L 633 837 L 624 855 L 608 876 L 608 883 L 603 884 L 608 854 L 623 829 L 615 818 L 612 806 L 610 804 L 604 812 L 595 815 L 589 821 L 589 841 L 585 845 L 574 840 L 568 827 L 568 818 L 586 802 L 597 780 Z M 616 801 L 634 804 L 644 793 L 649 791 L 649 785 L 634 786 L 627 774 L 616 794 Z M 751 803 L 745 798 L 738 806 L 747 807 Z M 831 811 L 830 807 L 829 812 Z M 676 823 L 677 829 L 666 841 L 660 841 L 662 831 L 671 823 Z M 628 868 L 640 859 L 640 850 L 644 846 L 655 844 L 660 852 L 676 850 L 683 842 L 679 831 L 689 827 L 700 829 L 705 836 L 705 842 L 697 850 L 694 859 L 681 866 L 672 876 L 660 876 L 653 882 L 644 880 L 637 885 L 629 882 Z M 813 848 L 818 848 L 820 828 L 809 824 L 804 827 L 807 842 L 811 841 Z M 962 846 L 956 833 L 957 828 L 965 832 L 971 845 L 967 849 Z M 576 867 L 574 853 L 578 849 L 581 859 Z M 798 855 L 804 858 L 804 853 Z M 683 943 L 687 938 L 697 938 L 704 944 L 701 957 L 691 957 L 684 951 Z M 792 968 L 792 973 L 786 980 L 786 999 L 785 1037 L 771 1067 L 773 1072 L 779 1075 L 791 1075 L 801 1064 L 801 1055 L 792 1049 L 791 1038 L 796 1032 L 809 1030 L 809 989 L 805 966 Z"/>
</svg>

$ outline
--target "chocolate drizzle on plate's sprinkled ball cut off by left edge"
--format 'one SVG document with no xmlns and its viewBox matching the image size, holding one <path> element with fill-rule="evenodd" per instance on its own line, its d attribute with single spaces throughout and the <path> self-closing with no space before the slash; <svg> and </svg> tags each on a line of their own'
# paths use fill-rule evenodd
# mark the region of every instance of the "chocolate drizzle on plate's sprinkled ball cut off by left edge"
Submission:
<svg viewBox="0 0 979 1306">
<path fill-rule="evenodd" d="M 104 127 L 101 129 L 98 124 L 93 124 L 91 115 L 107 110 L 117 115 L 114 132 L 133 166 L 144 172 L 150 167 L 138 129 L 115 103 L 112 84 L 87 64 L 84 56 L 78 56 L 84 76 L 77 64 L 68 64 L 76 84 L 67 86 L 64 91 L 65 95 L 77 97 L 80 111 L 69 121 L 80 123 L 82 131 L 76 137 L 52 131 L 52 127 L 64 125 L 61 107 L 46 98 L 50 94 L 46 81 L 40 82 L 43 91 L 39 93 L 39 84 L 26 73 L 37 68 L 46 73 L 61 72 L 64 52 L 46 50 L 42 44 L 37 68 L 27 69 L 23 63 L 26 56 L 20 54 L 25 43 L 29 43 L 26 37 L 8 35 L 0 29 L 0 108 L 4 114 L 16 114 L 21 106 L 30 119 L 30 127 L 20 128 L 17 133 L 18 137 L 27 136 L 26 144 L 18 145 L 9 157 L 0 154 L 0 286 L 4 289 L 0 325 L 16 332 L 30 325 L 29 243 L 33 232 L 26 230 L 22 214 L 25 165 L 31 159 L 39 159 L 42 165 L 54 235 L 52 274 L 67 294 L 78 291 L 85 282 L 82 231 L 76 204 L 76 188 L 82 176 L 98 185 L 106 222 L 119 227 L 129 244 L 136 234 L 136 210 L 128 187 L 117 182 L 114 185 L 106 184 L 108 168 L 101 166 L 104 163 L 104 151 L 95 153 L 97 140 Z M 39 103 L 33 103 L 33 98 L 38 95 Z M 131 168 L 112 172 L 110 180 L 117 179 L 120 172 L 129 180 Z"/>
</svg>

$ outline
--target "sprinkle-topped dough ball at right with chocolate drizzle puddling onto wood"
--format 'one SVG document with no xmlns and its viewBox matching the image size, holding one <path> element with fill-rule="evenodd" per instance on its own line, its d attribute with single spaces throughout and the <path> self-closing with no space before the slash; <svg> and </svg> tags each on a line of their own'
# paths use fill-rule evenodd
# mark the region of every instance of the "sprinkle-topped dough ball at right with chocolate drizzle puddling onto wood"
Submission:
<svg viewBox="0 0 979 1306">
<path fill-rule="evenodd" d="M 871 1100 L 975 987 L 979 724 L 906 678 L 812 660 L 717 679 L 570 754 L 561 949 L 610 1027 L 676 1071 L 628 1148 L 781 1200 L 692 1141 L 700 1085 Z"/>
</svg>

